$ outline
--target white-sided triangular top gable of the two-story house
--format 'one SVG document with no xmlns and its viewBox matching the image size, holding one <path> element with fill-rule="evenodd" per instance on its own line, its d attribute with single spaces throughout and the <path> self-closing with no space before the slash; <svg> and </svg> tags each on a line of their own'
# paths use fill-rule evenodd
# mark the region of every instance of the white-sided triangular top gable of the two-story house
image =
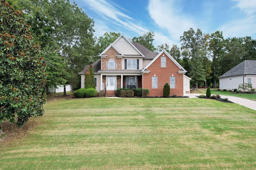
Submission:
<svg viewBox="0 0 256 170">
<path fill-rule="evenodd" d="M 123 54 L 123 55 L 142 55 L 132 43 L 126 37 L 121 35 L 113 45 Z M 143 55 L 142 55 L 143 56 Z"/>
</svg>

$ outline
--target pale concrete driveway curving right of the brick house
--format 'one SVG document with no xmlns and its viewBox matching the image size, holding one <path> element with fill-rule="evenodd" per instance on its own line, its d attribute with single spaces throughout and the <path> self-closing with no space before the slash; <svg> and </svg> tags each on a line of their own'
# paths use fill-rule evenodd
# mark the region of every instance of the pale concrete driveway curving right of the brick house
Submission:
<svg viewBox="0 0 256 170">
<path fill-rule="evenodd" d="M 184 96 L 188 96 L 189 98 L 197 98 L 196 96 L 200 96 L 201 94 L 191 93 L 186 94 Z M 248 100 L 244 98 L 238 98 L 234 96 L 221 96 L 222 99 L 228 98 L 229 101 L 234 102 L 236 104 L 240 104 L 242 106 L 248 107 L 250 109 L 256 110 L 256 101 Z"/>
</svg>

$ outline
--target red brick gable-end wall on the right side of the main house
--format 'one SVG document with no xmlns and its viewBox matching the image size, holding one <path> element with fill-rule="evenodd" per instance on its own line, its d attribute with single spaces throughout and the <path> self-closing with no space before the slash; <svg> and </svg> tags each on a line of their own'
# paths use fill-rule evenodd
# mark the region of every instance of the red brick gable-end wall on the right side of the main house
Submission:
<svg viewBox="0 0 256 170">
<path fill-rule="evenodd" d="M 166 67 L 161 68 L 161 56 L 163 56 L 163 54 L 148 67 L 150 72 L 143 74 L 144 88 L 149 88 L 149 96 L 163 96 L 164 84 L 168 83 L 170 85 L 170 76 L 173 74 L 173 76 L 175 76 L 175 88 L 170 89 L 170 96 L 174 94 L 183 96 L 183 74 L 178 73 L 180 68 L 178 68 L 166 54 L 164 54 L 166 57 Z M 157 76 L 158 80 L 157 88 L 152 88 L 152 76 L 154 76 L 154 74 Z"/>
</svg>

